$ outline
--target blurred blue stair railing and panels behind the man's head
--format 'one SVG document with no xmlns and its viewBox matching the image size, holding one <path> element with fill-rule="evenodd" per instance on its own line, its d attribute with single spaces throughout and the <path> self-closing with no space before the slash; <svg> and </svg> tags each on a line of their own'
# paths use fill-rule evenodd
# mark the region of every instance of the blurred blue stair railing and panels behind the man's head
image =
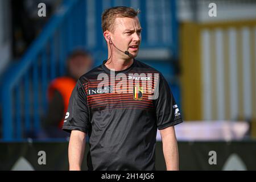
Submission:
<svg viewBox="0 0 256 182">
<path fill-rule="evenodd" d="M 47 110 L 47 85 L 65 74 L 65 60 L 73 49 L 88 49 L 96 65 L 106 59 L 101 14 L 112 6 L 142 11 L 142 48 L 167 48 L 177 56 L 175 1 L 64 1 L 18 64 L 3 77 L 2 140 L 19 140 L 31 131 L 40 131 Z"/>
</svg>

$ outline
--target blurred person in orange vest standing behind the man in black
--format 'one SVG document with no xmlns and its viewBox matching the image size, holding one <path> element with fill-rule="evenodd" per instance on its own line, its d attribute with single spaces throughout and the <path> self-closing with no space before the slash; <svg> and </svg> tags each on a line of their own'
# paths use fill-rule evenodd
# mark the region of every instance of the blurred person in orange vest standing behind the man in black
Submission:
<svg viewBox="0 0 256 182">
<path fill-rule="evenodd" d="M 89 52 L 76 50 L 67 60 L 66 76 L 57 77 L 48 86 L 48 111 L 44 119 L 44 134 L 48 138 L 62 138 L 68 135 L 61 130 L 69 97 L 80 76 L 92 68 L 93 60 Z"/>
</svg>

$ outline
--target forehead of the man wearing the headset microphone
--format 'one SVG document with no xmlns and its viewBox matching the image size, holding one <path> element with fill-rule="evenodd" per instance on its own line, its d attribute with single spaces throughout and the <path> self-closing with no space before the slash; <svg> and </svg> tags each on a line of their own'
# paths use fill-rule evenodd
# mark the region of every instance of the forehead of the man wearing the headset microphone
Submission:
<svg viewBox="0 0 256 182">
<path fill-rule="evenodd" d="M 134 18 L 129 18 L 129 17 L 117 17 L 115 18 L 115 28 L 122 28 L 123 30 L 126 29 L 131 29 L 133 30 L 134 27 L 136 28 L 141 28 L 141 24 L 139 23 L 139 19 L 137 16 Z"/>
</svg>

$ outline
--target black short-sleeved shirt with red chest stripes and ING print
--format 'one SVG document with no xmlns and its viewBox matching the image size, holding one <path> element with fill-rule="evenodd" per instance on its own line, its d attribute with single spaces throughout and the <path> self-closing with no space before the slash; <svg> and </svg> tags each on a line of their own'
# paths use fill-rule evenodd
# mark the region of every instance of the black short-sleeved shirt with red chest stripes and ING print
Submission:
<svg viewBox="0 0 256 182">
<path fill-rule="evenodd" d="M 105 77 L 98 80 L 98 76 Z M 89 170 L 155 170 L 157 129 L 181 122 L 165 78 L 134 59 L 114 76 L 104 63 L 81 76 L 63 130 L 89 135 Z"/>
</svg>

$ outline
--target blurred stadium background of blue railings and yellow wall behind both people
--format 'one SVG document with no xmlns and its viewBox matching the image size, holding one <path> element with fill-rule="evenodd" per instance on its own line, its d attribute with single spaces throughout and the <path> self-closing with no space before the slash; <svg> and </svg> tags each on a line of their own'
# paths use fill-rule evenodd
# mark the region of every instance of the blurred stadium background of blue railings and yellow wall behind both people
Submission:
<svg viewBox="0 0 256 182">
<path fill-rule="evenodd" d="M 46 17 L 38 16 L 40 2 Z M 208 14 L 210 3 L 217 5 L 216 17 Z M 47 86 L 65 74 L 69 53 L 89 50 L 94 66 L 106 59 L 101 13 L 111 6 L 141 10 L 137 59 L 167 78 L 185 121 L 175 127 L 180 169 L 255 170 L 252 0 L 0 0 L 0 169 L 68 169 L 68 138 L 31 136 L 42 129 Z M 159 133 L 157 139 L 162 170 Z M 39 151 L 46 151 L 46 165 L 38 164 Z M 217 164 L 209 164 L 210 151 Z"/>
</svg>

